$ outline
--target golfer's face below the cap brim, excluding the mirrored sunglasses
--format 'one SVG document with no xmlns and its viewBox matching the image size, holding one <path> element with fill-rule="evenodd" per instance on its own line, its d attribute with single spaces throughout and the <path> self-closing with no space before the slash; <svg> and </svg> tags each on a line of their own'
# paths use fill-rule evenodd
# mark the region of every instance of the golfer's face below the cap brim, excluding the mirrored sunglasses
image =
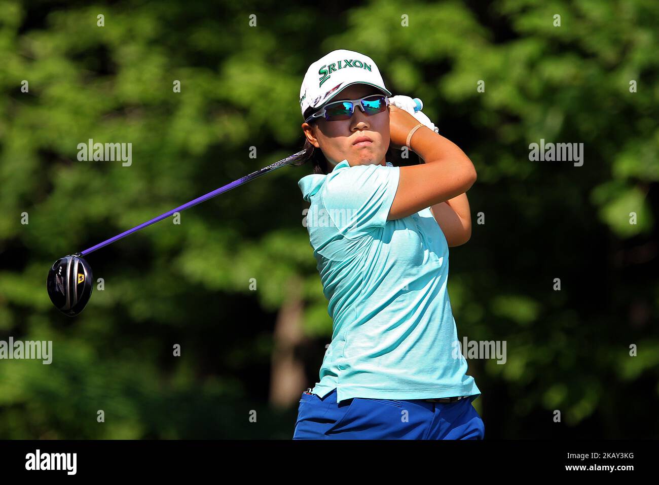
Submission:
<svg viewBox="0 0 659 485">
<path fill-rule="evenodd" d="M 339 92 L 331 102 L 355 100 L 368 94 L 382 94 L 382 91 L 368 84 L 353 84 Z M 348 160 L 350 166 L 384 165 L 389 150 L 389 107 L 385 112 L 369 116 L 355 106 L 350 119 L 326 121 L 320 117 L 311 124 L 302 123 L 302 130 L 309 143 L 322 150 L 331 170 L 342 160 Z M 355 145 L 360 137 L 372 141 Z"/>
</svg>

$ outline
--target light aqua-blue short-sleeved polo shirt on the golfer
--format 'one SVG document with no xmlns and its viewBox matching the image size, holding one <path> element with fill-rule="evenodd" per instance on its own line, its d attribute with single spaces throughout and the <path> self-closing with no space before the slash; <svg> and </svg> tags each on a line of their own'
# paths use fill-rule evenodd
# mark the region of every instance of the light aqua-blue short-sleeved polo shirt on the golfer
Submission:
<svg viewBox="0 0 659 485">
<path fill-rule="evenodd" d="M 347 160 L 298 185 L 332 338 L 312 392 L 428 399 L 479 395 L 446 288 L 449 250 L 430 208 L 387 220 L 399 167 Z"/>
</svg>

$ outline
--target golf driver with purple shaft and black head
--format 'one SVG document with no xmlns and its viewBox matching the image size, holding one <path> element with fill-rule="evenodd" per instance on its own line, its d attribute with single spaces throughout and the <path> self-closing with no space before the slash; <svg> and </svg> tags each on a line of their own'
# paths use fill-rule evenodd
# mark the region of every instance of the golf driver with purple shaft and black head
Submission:
<svg viewBox="0 0 659 485">
<path fill-rule="evenodd" d="M 415 98 L 415 102 L 416 106 L 414 110 L 415 112 L 418 112 L 422 109 L 423 104 L 418 98 Z M 190 207 L 193 207 L 204 201 L 208 201 L 208 199 L 212 199 L 213 197 L 217 197 L 217 195 L 220 195 L 221 193 L 225 193 L 226 191 L 238 187 L 239 185 L 243 185 L 243 183 L 247 183 L 250 180 L 254 180 L 255 178 L 258 178 L 262 175 L 268 174 L 273 170 L 277 170 L 277 168 L 290 165 L 293 162 L 299 160 L 302 154 L 304 154 L 304 151 L 305 150 L 301 150 L 291 156 L 288 156 L 287 158 L 284 158 L 283 160 L 279 160 L 279 162 L 275 162 L 272 165 L 268 165 L 267 167 L 264 167 L 260 170 L 256 170 L 256 172 L 252 172 L 251 174 L 246 175 L 243 178 L 239 178 L 231 183 L 227 183 L 227 185 L 219 187 L 219 189 L 215 189 L 206 195 L 197 197 L 196 199 L 185 203 L 176 209 L 172 209 L 168 212 L 165 212 L 164 214 L 160 214 L 158 217 L 154 217 L 153 219 L 148 220 L 139 226 L 135 226 L 134 228 L 122 232 L 121 234 L 117 234 L 117 236 L 100 242 L 88 249 L 85 249 L 84 251 L 70 254 L 58 259 L 55 261 L 55 263 L 53 263 L 46 279 L 46 288 L 51 302 L 53 302 L 53 305 L 55 305 L 55 307 L 65 315 L 69 315 L 70 317 L 78 315 L 84 309 L 90 297 L 92 296 L 92 285 L 94 284 L 92 267 L 90 267 L 89 263 L 85 261 L 82 256 L 93 253 L 97 249 L 101 249 L 103 246 L 106 246 L 115 241 L 119 241 L 120 239 L 125 238 L 133 232 L 137 232 L 138 230 L 144 229 L 151 224 L 155 224 L 156 222 L 159 222 L 175 214 L 175 212 L 181 212 L 185 209 L 190 209 Z"/>
</svg>

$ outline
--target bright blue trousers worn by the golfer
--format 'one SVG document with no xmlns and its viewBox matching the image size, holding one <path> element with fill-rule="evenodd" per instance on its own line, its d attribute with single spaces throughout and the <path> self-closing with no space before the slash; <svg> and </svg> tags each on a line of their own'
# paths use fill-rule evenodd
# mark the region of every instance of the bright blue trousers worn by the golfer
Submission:
<svg viewBox="0 0 659 485">
<path fill-rule="evenodd" d="M 366 399 L 336 402 L 302 393 L 293 439 L 483 439 L 485 425 L 472 402 Z"/>
</svg>

